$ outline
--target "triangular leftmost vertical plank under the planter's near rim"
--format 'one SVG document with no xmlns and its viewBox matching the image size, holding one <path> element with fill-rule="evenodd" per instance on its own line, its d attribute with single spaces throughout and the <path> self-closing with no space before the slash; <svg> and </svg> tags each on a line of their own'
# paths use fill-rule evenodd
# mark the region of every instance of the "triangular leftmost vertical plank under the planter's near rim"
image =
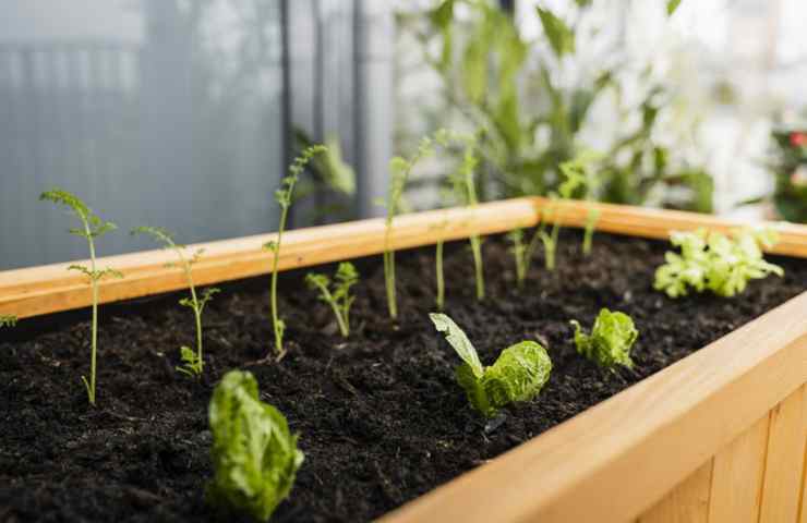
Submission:
<svg viewBox="0 0 807 523">
<path fill-rule="evenodd" d="M 709 460 L 647 511 L 639 523 L 707 523 L 713 460 Z"/>
</svg>

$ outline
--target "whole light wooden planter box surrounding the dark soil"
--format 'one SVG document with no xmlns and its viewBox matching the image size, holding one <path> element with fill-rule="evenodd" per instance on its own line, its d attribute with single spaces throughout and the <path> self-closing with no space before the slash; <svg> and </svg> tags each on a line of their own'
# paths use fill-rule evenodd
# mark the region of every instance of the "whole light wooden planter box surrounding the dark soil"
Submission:
<svg viewBox="0 0 807 523">
<path fill-rule="evenodd" d="M 490 234 L 538 222 L 542 198 L 518 198 L 396 219 L 394 247 Z M 561 204 L 580 226 L 647 238 L 736 227 L 714 217 L 615 205 Z M 807 257 L 807 227 L 776 223 L 779 254 Z M 381 253 L 383 220 L 292 231 L 284 270 Z M 269 271 L 273 234 L 194 245 L 197 284 Z M 101 262 L 124 272 L 103 283 L 113 302 L 184 288 L 150 251 Z M 89 291 L 67 264 L 0 272 L 0 314 L 84 307 Z M 807 523 L 807 292 L 585 413 L 387 514 L 408 522 Z"/>
</svg>

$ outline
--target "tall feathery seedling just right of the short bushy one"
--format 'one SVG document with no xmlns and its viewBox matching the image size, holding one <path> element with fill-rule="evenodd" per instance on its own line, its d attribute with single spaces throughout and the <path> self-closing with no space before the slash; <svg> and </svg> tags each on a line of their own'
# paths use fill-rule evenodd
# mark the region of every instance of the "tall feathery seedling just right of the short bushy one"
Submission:
<svg viewBox="0 0 807 523">
<path fill-rule="evenodd" d="M 414 169 L 414 166 L 421 159 L 433 153 L 434 143 L 432 138 L 426 136 L 421 138 L 418 150 L 411 158 L 406 159 L 396 156 L 389 160 L 389 172 L 392 177 L 389 190 L 386 202 L 380 203 L 380 205 L 387 209 L 384 231 L 384 284 L 387 291 L 387 309 L 392 318 L 398 317 L 398 299 L 395 289 L 395 251 L 392 248 L 393 220 L 400 210 L 404 190 L 407 186 L 412 169 Z"/>
</svg>

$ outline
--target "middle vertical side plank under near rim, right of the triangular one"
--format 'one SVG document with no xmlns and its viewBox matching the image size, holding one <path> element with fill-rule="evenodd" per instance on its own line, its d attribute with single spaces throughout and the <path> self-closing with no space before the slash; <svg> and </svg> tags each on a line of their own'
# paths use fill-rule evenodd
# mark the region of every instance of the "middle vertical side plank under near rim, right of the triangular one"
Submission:
<svg viewBox="0 0 807 523">
<path fill-rule="evenodd" d="M 710 522 L 757 523 L 768 451 L 770 415 L 714 457 Z"/>
</svg>

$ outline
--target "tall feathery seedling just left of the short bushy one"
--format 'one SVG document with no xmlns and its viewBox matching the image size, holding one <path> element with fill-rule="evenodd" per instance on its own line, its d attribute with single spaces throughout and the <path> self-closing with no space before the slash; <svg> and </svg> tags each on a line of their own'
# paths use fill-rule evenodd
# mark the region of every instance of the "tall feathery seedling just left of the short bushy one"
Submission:
<svg viewBox="0 0 807 523">
<path fill-rule="evenodd" d="M 284 349 L 284 332 L 286 331 L 286 324 L 280 319 L 277 312 L 277 269 L 280 263 L 280 243 L 282 241 L 284 230 L 286 229 L 286 220 L 289 216 L 289 208 L 294 195 L 294 185 L 300 180 L 300 174 L 305 170 L 305 166 L 314 158 L 314 156 L 323 154 L 327 150 L 324 145 L 312 145 L 305 147 L 302 154 L 294 158 L 294 161 L 289 166 L 289 175 L 282 179 L 281 186 L 275 191 L 275 199 L 280 206 L 280 223 L 277 228 L 277 240 L 264 244 L 264 248 L 270 251 L 274 254 L 272 262 L 272 328 L 275 332 L 275 354 L 277 360 L 280 361 L 286 355 Z"/>
</svg>

